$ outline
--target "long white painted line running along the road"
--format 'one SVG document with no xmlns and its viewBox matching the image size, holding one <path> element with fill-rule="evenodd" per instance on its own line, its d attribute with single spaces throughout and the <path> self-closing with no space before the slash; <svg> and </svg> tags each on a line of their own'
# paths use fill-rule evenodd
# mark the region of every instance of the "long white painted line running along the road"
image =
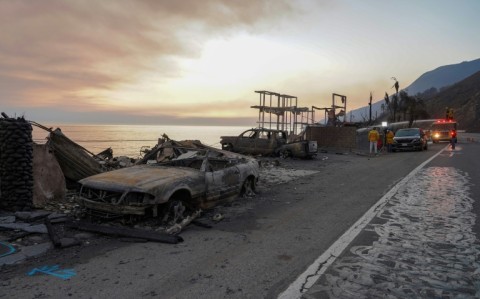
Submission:
<svg viewBox="0 0 480 299">
<path fill-rule="evenodd" d="M 376 204 L 374 204 L 360 219 L 357 220 L 335 243 L 332 244 L 322 255 L 320 255 L 311 264 L 305 272 L 300 274 L 298 278 L 280 295 L 278 299 L 294 299 L 300 298 L 313 284 L 320 278 L 320 276 L 328 269 L 328 267 L 335 261 L 335 259 L 347 248 L 347 246 L 355 239 L 355 237 L 370 223 L 377 212 L 384 207 L 384 205 L 393 197 L 398 189 L 403 187 L 417 172 L 426 164 L 435 159 L 448 147 L 444 147 L 438 153 L 430 157 L 417 168 L 406 175 L 398 184 L 390 189 Z"/>
</svg>

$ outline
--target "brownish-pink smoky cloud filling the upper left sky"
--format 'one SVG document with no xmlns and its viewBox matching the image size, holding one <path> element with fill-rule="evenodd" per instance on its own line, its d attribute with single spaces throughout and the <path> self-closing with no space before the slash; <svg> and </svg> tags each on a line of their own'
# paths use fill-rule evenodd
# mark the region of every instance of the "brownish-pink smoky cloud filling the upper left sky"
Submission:
<svg viewBox="0 0 480 299">
<path fill-rule="evenodd" d="M 18 107 L 102 105 L 145 72 L 181 75 L 205 39 L 266 30 L 288 1 L 2 1 L 0 97 Z"/>
</svg>

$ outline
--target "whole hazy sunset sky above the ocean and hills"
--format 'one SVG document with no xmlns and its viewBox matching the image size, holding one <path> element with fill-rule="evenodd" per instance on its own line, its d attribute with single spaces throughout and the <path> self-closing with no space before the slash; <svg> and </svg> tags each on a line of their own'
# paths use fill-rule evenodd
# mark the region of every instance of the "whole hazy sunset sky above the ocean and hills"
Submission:
<svg viewBox="0 0 480 299">
<path fill-rule="evenodd" d="M 0 111 L 255 126 L 256 90 L 347 112 L 480 58 L 478 0 L 0 0 Z"/>
</svg>

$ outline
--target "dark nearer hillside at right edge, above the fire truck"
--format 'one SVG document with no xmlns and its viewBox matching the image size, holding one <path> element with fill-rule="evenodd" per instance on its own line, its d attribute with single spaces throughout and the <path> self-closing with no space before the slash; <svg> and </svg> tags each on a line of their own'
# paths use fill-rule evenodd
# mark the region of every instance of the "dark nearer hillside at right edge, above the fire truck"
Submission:
<svg viewBox="0 0 480 299">
<path fill-rule="evenodd" d="M 432 118 L 444 118 L 445 108 L 453 108 L 459 130 L 480 132 L 480 72 L 425 99 Z"/>
</svg>

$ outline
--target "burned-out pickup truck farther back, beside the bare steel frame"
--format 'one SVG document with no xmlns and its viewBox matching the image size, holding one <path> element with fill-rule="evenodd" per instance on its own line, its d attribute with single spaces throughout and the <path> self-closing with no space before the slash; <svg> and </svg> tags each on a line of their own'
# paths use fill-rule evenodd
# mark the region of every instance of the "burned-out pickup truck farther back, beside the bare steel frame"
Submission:
<svg viewBox="0 0 480 299">
<path fill-rule="evenodd" d="M 308 140 L 287 141 L 282 130 L 254 128 L 239 136 L 222 136 L 223 150 L 247 155 L 281 156 L 283 158 L 312 158 L 317 154 L 317 142 Z"/>
</svg>

